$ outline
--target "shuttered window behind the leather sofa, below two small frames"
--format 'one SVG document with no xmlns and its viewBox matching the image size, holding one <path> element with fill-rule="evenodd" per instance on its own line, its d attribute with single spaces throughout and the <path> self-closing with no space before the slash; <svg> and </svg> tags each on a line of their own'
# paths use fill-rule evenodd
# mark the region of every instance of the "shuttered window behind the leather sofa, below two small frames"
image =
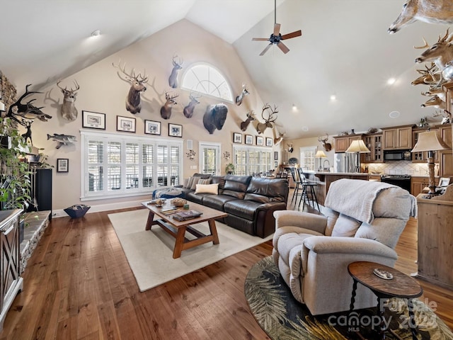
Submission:
<svg viewBox="0 0 453 340">
<path fill-rule="evenodd" d="M 272 149 L 234 145 L 234 174 L 263 174 L 274 169 Z"/>
</svg>

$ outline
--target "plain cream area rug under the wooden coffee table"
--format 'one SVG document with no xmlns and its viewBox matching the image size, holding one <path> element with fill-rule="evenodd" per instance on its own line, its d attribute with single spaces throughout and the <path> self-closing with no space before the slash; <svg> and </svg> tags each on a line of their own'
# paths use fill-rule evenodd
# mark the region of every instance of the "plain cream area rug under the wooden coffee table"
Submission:
<svg viewBox="0 0 453 340">
<path fill-rule="evenodd" d="M 148 212 L 142 209 L 108 215 L 141 292 L 272 239 L 272 235 L 253 237 L 216 221 L 219 244 L 209 242 L 183 250 L 179 259 L 173 259 L 175 239 L 157 225 L 144 229 Z M 209 234 L 207 222 L 196 228 Z M 186 233 L 186 237 L 192 235 Z"/>
</svg>

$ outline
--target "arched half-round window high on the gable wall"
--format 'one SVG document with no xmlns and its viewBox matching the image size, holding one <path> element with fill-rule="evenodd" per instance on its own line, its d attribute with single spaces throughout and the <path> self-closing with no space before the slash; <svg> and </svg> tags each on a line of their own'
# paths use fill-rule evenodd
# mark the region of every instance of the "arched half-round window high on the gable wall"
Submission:
<svg viewBox="0 0 453 340">
<path fill-rule="evenodd" d="M 233 94 L 225 77 L 210 64 L 194 64 L 188 68 L 183 74 L 181 88 L 224 101 L 233 101 Z"/>
</svg>

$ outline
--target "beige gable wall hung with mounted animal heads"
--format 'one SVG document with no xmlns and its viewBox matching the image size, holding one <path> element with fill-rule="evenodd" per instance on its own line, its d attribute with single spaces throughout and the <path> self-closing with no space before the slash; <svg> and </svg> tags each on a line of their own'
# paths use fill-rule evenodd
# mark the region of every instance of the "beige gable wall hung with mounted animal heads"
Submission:
<svg viewBox="0 0 453 340">
<path fill-rule="evenodd" d="M 108 34 L 108 33 L 106 33 Z M 101 36 L 102 38 L 102 36 Z M 213 98 L 200 98 L 201 103 L 195 108 L 192 118 L 185 118 L 183 107 L 187 105 L 189 92 L 180 89 L 172 89 L 180 94 L 178 106 L 173 107 L 173 114 L 169 120 L 164 120 L 160 115 L 160 108 L 165 102 L 165 91 L 170 90 L 168 86 L 168 76 L 171 72 L 171 60 L 174 54 L 183 58 L 184 69 L 195 62 L 208 62 L 222 72 L 229 80 L 233 88 L 234 96 L 241 91 L 241 85 L 247 84 L 250 95 L 246 96 L 241 106 L 234 103 L 226 103 L 229 108 L 228 117 L 222 130 L 216 130 L 212 135 L 202 125 L 202 115 L 205 113 L 207 105 L 219 103 Z M 81 51 L 80 55 L 84 55 Z M 134 67 L 136 72 L 146 72 L 149 76 L 147 91 L 142 93 L 142 111 L 132 115 L 125 109 L 125 96 L 129 91 L 130 85 L 122 81 L 117 76 L 117 69 L 113 68 L 112 63 L 117 64 L 120 60 L 126 62 L 126 71 L 130 72 Z M 258 56 L 257 56 L 258 58 Z M 180 72 L 183 72 L 182 69 Z M 76 80 L 80 89 L 76 98 L 76 108 L 79 116 L 74 122 L 69 122 L 60 117 L 59 108 L 62 103 L 62 93 L 57 86 L 45 89 L 45 95 L 36 96 L 37 106 L 45 106 L 42 109 L 47 114 L 52 115 L 52 119 L 47 122 L 39 120 L 33 123 L 33 145 L 44 148 L 44 153 L 49 155 L 48 163 L 56 165 L 58 158 L 69 159 L 69 172 L 57 173 L 53 170 L 53 210 L 67 208 L 69 205 L 81 203 L 80 197 L 80 178 L 81 178 L 81 150 L 80 150 L 80 130 L 82 126 L 81 111 L 94 111 L 106 114 L 106 131 L 116 132 L 116 116 L 137 118 L 136 135 L 144 135 L 144 120 L 158 120 L 161 122 L 161 137 L 168 138 L 168 123 L 183 125 L 184 140 L 184 176 L 190 176 L 198 169 L 191 166 L 198 166 L 198 140 L 205 142 L 221 142 L 222 154 L 225 151 L 232 151 L 232 134 L 241 132 L 239 125 L 246 119 L 246 113 L 253 109 L 259 119 L 263 100 L 257 94 L 247 70 L 236 54 L 234 48 L 223 40 L 207 33 L 202 28 L 195 26 L 189 21 L 182 20 L 178 23 L 159 31 L 149 38 L 130 45 L 125 50 L 115 53 L 110 57 L 93 64 L 81 72 L 74 74 L 67 79 L 62 79 L 62 86 L 74 86 Z M 18 89 L 18 94 L 22 94 Z M 47 99 L 45 99 L 47 98 Z M 282 119 L 282 118 L 279 118 Z M 253 122 L 256 124 L 256 122 Z M 47 140 L 47 134 L 54 133 L 74 135 L 77 142 L 74 145 L 63 146 L 55 149 L 57 142 Z M 118 132 L 130 133 L 130 132 Z M 248 126 L 246 132 L 249 135 L 258 135 L 253 124 Z M 150 136 L 153 138 L 155 136 Z M 264 137 L 274 137 L 272 130 L 265 131 Z M 193 149 L 197 155 L 193 161 L 185 157 L 186 140 L 193 140 Z M 275 151 L 280 147 L 274 147 Z M 224 166 L 231 160 L 222 157 L 222 172 Z M 147 200 L 149 196 L 92 200 L 83 202 L 91 205 L 91 211 L 107 209 L 110 204 L 126 206 L 131 200 Z M 96 205 L 98 207 L 96 208 Z M 111 205 L 113 207 L 113 205 Z"/>
</svg>

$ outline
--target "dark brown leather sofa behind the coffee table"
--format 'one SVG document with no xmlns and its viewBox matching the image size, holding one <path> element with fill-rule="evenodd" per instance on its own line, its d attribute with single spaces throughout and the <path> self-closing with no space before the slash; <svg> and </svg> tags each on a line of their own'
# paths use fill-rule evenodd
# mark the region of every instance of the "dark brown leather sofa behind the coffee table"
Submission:
<svg viewBox="0 0 453 340">
<path fill-rule="evenodd" d="M 267 237 L 275 232 L 275 210 L 286 210 L 289 186 L 287 179 L 252 176 L 210 176 L 195 174 L 211 183 L 219 183 L 219 193 L 196 193 L 180 188 L 185 199 L 228 214 L 221 222 L 247 234 Z"/>
</svg>

